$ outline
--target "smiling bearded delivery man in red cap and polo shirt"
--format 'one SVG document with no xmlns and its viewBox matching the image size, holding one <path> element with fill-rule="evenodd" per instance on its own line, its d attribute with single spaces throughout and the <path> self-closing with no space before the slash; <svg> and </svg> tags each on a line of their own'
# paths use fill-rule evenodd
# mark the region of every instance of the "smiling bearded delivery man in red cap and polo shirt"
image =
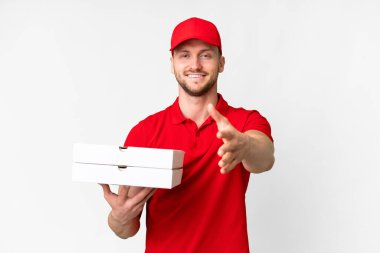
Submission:
<svg viewBox="0 0 380 253">
<path fill-rule="evenodd" d="M 136 125 L 124 145 L 185 151 L 182 182 L 170 190 L 120 186 L 118 194 L 102 185 L 109 226 L 121 238 L 135 235 L 147 203 L 146 252 L 249 252 L 245 193 L 250 173 L 273 166 L 269 123 L 217 93 L 225 59 L 214 24 L 181 22 L 170 50 L 179 96 Z"/>
</svg>

